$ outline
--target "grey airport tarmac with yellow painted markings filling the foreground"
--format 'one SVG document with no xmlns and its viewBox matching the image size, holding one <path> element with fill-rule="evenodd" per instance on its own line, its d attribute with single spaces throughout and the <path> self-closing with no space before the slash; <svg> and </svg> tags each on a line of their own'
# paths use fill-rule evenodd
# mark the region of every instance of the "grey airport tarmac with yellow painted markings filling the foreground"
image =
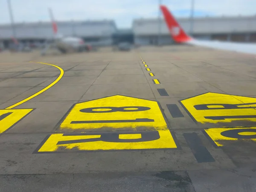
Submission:
<svg viewBox="0 0 256 192">
<path fill-rule="evenodd" d="M 256 191 L 255 55 L 0 59 L 0 191 Z"/>
</svg>

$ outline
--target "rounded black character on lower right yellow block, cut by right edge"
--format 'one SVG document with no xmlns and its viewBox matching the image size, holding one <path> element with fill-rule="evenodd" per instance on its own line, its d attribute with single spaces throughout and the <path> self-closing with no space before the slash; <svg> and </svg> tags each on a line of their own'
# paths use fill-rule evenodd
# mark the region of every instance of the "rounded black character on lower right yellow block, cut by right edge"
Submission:
<svg viewBox="0 0 256 192">
<path fill-rule="evenodd" d="M 252 132 L 254 133 L 254 135 L 240 134 L 243 132 Z M 221 132 L 221 135 L 224 137 L 230 137 L 235 139 L 256 139 L 256 129 L 231 129 Z"/>
</svg>

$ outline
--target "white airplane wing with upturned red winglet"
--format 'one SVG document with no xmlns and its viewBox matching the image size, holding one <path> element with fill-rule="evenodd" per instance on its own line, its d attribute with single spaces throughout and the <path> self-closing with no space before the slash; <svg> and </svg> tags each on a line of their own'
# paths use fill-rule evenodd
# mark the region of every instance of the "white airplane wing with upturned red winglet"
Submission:
<svg viewBox="0 0 256 192">
<path fill-rule="evenodd" d="M 221 41 L 205 41 L 197 40 L 189 35 L 182 29 L 180 24 L 175 20 L 175 17 L 167 9 L 166 6 L 161 5 L 160 9 L 166 21 L 166 25 L 173 40 L 181 44 L 190 44 L 203 47 L 210 47 L 214 49 L 230 50 L 242 53 L 256 54 L 256 44 L 252 43 L 235 43 L 235 42 L 221 42 Z"/>
</svg>

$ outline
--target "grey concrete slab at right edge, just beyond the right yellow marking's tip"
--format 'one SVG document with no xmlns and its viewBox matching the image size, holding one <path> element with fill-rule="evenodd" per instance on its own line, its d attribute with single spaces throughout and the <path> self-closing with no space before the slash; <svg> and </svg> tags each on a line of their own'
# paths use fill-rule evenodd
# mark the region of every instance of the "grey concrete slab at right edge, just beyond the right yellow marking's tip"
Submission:
<svg viewBox="0 0 256 192">
<path fill-rule="evenodd" d="M 209 81 L 209 83 L 228 94 L 256 95 L 256 81 Z"/>
</svg>

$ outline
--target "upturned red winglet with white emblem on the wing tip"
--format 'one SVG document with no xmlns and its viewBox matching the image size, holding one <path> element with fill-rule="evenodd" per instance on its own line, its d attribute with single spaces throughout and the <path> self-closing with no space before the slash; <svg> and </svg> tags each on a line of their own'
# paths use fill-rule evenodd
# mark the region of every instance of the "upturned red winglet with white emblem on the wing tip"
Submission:
<svg viewBox="0 0 256 192">
<path fill-rule="evenodd" d="M 163 12 L 163 16 L 166 21 L 166 25 L 170 31 L 170 34 L 174 41 L 177 43 L 185 43 L 192 38 L 184 32 L 181 28 L 180 24 L 175 20 L 175 17 L 169 12 L 166 6 L 160 6 L 161 11 Z"/>
</svg>

